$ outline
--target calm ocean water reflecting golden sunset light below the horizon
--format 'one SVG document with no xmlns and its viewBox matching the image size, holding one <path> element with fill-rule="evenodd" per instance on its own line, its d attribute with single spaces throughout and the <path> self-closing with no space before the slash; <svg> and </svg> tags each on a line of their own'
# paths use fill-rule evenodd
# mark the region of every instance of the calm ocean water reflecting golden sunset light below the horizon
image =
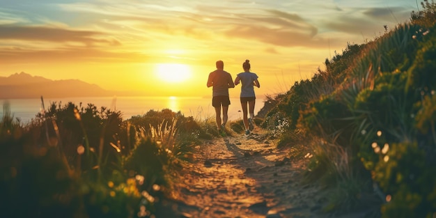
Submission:
<svg viewBox="0 0 436 218">
<path fill-rule="evenodd" d="M 44 99 L 45 108 L 52 102 L 65 105 L 68 102 L 86 107 L 87 104 L 94 104 L 98 108 L 106 107 L 114 111 L 121 111 L 123 119 L 127 120 L 132 116 L 146 114 L 150 110 L 161 111 L 171 109 L 180 111 L 185 116 L 192 116 L 197 120 L 215 117 L 215 109 L 212 107 L 212 98 L 201 97 L 104 97 L 104 98 L 47 98 Z M 20 118 L 22 123 L 28 123 L 35 118 L 38 112 L 42 111 L 42 101 L 40 98 L 28 99 L 8 99 L 0 100 L 0 104 L 8 104 L 10 112 L 14 118 Z M 256 100 L 254 114 L 263 107 L 263 99 Z M 4 110 L 0 110 L 0 117 L 3 117 Z M 231 105 L 228 107 L 228 119 L 238 120 L 242 118 L 241 105 L 239 98 L 231 98 Z"/>
</svg>

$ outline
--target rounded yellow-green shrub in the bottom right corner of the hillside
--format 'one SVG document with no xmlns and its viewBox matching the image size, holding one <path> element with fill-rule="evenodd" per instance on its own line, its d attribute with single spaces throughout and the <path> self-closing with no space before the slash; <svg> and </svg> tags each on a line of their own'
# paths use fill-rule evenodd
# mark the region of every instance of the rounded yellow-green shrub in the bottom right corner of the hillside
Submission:
<svg viewBox="0 0 436 218">
<path fill-rule="evenodd" d="M 394 143 L 380 152 L 374 179 L 387 203 L 383 217 L 432 217 L 436 205 L 436 169 L 416 143 Z"/>
</svg>

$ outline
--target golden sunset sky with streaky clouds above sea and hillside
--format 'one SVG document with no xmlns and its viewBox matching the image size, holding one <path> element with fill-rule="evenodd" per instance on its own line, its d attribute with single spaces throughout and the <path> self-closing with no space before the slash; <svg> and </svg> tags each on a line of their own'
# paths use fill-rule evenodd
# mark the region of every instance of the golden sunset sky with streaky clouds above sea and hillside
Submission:
<svg viewBox="0 0 436 218">
<path fill-rule="evenodd" d="M 407 22 L 419 2 L 0 0 L 0 76 L 208 95 L 215 61 L 234 78 L 249 59 L 262 85 L 256 92 L 271 95 L 310 79 L 348 42 L 368 42 L 384 25 Z"/>
</svg>

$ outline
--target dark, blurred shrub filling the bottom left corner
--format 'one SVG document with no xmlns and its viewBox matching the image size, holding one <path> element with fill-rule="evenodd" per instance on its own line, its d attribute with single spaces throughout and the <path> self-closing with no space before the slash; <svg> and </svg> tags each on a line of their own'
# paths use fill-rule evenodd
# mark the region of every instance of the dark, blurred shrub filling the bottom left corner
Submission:
<svg viewBox="0 0 436 218">
<path fill-rule="evenodd" d="M 3 144 L 0 217 L 81 215 L 78 178 L 54 147 L 28 146 L 22 139 Z"/>
</svg>

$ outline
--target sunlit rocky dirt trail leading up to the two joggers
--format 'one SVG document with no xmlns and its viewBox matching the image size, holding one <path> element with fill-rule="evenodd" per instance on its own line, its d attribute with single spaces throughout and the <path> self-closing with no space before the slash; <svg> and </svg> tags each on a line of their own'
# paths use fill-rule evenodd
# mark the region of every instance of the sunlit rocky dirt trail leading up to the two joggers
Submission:
<svg viewBox="0 0 436 218">
<path fill-rule="evenodd" d="M 304 161 L 287 154 L 262 130 L 205 141 L 178 171 L 173 201 L 165 202 L 176 215 L 157 218 L 320 217 L 318 187 L 302 185 Z"/>
</svg>

